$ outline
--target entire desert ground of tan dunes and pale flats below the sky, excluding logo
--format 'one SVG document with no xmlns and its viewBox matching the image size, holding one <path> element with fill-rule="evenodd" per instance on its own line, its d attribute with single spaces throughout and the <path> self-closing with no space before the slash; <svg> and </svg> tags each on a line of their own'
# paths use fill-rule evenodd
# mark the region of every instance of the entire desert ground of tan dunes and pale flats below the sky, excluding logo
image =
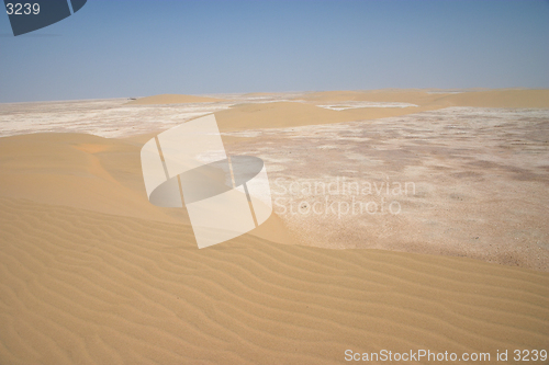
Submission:
<svg viewBox="0 0 549 365">
<path fill-rule="evenodd" d="M 0 105 L 0 363 L 338 364 L 346 350 L 421 349 L 494 363 L 549 350 L 547 96 Z M 148 203 L 139 150 L 211 112 L 227 153 L 261 157 L 273 198 L 295 212 L 325 196 L 274 193 L 288 182 L 415 192 L 330 195 L 390 195 L 399 215 L 276 206 L 257 230 L 199 250 L 184 209 Z"/>
</svg>

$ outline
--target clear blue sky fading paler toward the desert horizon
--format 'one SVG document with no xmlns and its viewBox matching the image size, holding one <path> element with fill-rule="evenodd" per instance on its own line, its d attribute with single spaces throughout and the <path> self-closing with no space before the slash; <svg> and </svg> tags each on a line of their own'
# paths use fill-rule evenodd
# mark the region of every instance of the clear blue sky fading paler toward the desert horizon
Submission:
<svg viewBox="0 0 549 365">
<path fill-rule="evenodd" d="M 549 88 L 549 2 L 89 0 L 18 37 L 0 14 L 0 102 L 382 88 Z"/>
</svg>

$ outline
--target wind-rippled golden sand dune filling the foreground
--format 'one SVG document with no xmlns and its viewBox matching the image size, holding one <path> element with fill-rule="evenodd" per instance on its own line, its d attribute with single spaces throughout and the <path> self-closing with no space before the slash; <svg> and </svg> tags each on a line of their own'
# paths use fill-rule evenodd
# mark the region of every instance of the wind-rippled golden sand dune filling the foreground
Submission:
<svg viewBox="0 0 549 365">
<path fill-rule="evenodd" d="M 338 364 L 344 352 L 547 349 L 549 275 L 279 246 L 0 198 L 0 362 Z"/>
</svg>

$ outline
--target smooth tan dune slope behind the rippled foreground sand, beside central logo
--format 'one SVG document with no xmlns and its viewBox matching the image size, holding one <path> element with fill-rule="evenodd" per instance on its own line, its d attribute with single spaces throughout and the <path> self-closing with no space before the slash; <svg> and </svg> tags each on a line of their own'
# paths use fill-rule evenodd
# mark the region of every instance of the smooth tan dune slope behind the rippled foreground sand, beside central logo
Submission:
<svg viewBox="0 0 549 365">
<path fill-rule="evenodd" d="M 120 140 L 85 134 L 34 134 L 2 138 L 0 196 L 189 224 L 184 209 L 159 208 L 147 199 L 139 151 L 152 137 Z M 276 215 L 254 235 L 293 243 Z"/>
</svg>

